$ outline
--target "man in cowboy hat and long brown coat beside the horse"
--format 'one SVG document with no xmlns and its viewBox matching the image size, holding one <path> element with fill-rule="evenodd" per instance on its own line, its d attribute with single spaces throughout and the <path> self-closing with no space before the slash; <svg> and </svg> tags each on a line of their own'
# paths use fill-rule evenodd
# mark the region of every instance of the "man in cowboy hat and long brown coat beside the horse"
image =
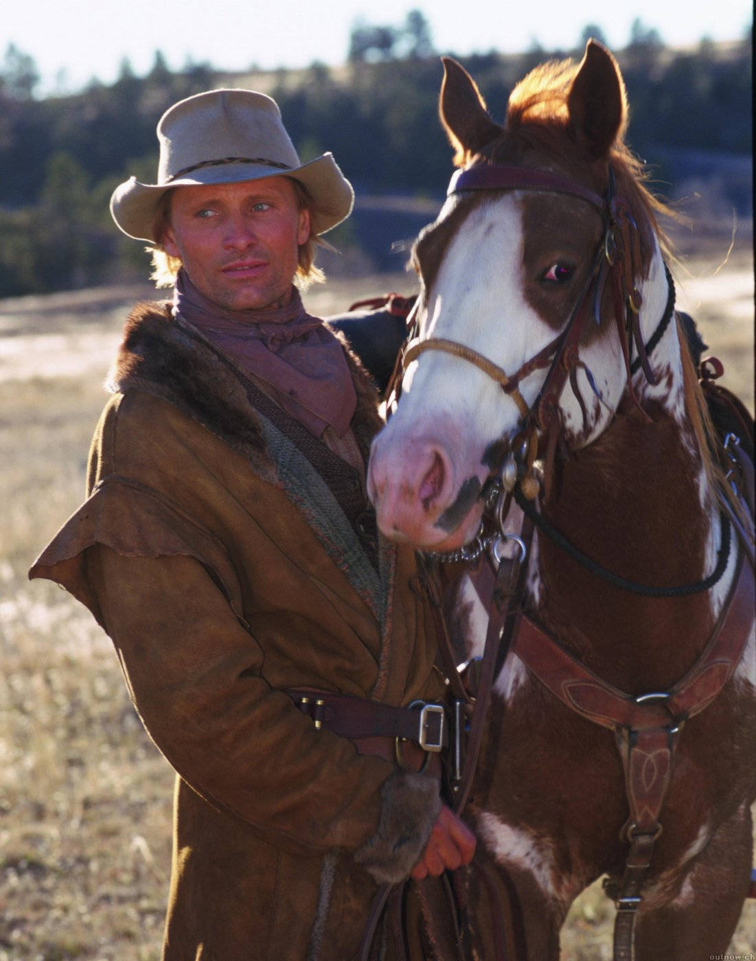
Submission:
<svg viewBox="0 0 756 961">
<path fill-rule="evenodd" d="M 111 209 L 173 300 L 130 317 L 88 500 L 31 576 L 108 631 L 177 771 L 164 958 L 343 961 L 379 883 L 474 850 L 416 743 L 443 683 L 415 557 L 365 500 L 376 397 L 292 286 L 353 193 L 260 93 L 189 97 L 158 138 L 158 183 Z"/>
</svg>

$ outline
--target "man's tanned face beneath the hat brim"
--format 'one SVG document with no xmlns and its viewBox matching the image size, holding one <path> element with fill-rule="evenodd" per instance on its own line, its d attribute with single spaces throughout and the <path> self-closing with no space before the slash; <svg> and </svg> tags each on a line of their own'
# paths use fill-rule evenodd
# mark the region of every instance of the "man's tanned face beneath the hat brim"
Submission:
<svg viewBox="0 0 756 961">
<path fill-rule="evenodd" d="M 163 245 L 214 304 L 265 310 L 288 302 L 309 236 L 310 215 L 297 209 L 290 181 L 270 177 L 175 187 Z"/>
</svg>

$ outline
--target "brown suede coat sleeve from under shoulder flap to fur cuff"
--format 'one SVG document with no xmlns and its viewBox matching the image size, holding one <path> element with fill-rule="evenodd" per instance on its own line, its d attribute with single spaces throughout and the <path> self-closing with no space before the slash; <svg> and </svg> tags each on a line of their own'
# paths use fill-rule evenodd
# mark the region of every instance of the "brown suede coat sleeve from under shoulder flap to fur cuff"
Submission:
<svg viewBox="0 0 756 961">
<path fill-rule="evenodd" d="M 377 870 L 411 870 L 438 813 L 433 781 L 392 775 L 271 689 L 263 653 L 194 558 L 100 545 L 86 563 L 139 715 L 193 790 L 294 853 L 369 850 L 394 821 Z"/>
</svg>

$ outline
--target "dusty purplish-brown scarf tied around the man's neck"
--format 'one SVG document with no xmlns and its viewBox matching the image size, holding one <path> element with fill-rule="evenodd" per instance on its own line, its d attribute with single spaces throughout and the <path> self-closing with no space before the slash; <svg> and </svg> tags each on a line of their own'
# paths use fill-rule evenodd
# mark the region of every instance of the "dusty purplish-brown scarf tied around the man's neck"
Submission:
<svg viewBox="0 0 756 961">
<path fill-rule="evenodd" d="M 286 307 L 230 310 L 209 301 L 182 268 L 173 316 L 264 381 L 273 400 L 316 437 L 328 426 L 339 436 L 349 429 L 357 407 L 349 365 L 334 334 L 307 313 L 296 287 Z"/>
</svg>

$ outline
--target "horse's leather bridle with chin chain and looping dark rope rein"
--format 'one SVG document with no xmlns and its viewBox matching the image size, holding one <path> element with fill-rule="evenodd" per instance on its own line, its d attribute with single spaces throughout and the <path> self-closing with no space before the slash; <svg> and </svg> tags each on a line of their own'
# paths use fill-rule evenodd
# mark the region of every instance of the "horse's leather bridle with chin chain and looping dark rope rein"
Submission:
<svg viewBox="0 0 756 961">
<path fill-rule="evenodd" d="M 517 166 L 473 166 L 466 170 L 457 171 L 452 177 L 448 195 L 460 190 L 541 190 L 549 193 L 562 193 L 585 200 L 597 209 L 603 219 L 603 232 L 592 256 L 592 267 L 588 273 L 580 293 L 573 302 L 567 317 L 567 323 L 545 347 L 534 357 L 526 360 L 516 373 L 508 375 L 501 367 L 493 363 L 465 344 L 441 337 L 413 337 L 405 347 L 401 358 L 401 369 L 407 366 L 428 350 L 441 351 L 453 357 L 459 357 L 473 364 L 487 374 L 491 380 L 497 382 L 505 394 L 512 397 L 520 412 L 519 429 L 510 442 L 510 454 L 501 465 L 491 471 L 491 478 L 486 490 L 486 509 L 494 513 L 493 533 L 485 537 L 483 525 L 478 530 L 470 545 L 463 546 L 454 552 L 437 554 L 426 552 L 433 560 L 447 561 L 475 561 L 488 551 L 494 568 L 498 566 L 504 551 L 505 541 L 522 543 L 521 538 L 504 532 L 504 517 L 510 501 L 509 495 L 517 502 L 523 514 L 531 524 L 541 530 L 561 550 L 577 561 L 581 566 L 591 570 L 597 577 L 608 580 L 615 586 L 645 597 L 686 597 L 700 591 L 708 590 L 724 574 L 730 554 L 730 523 L 721 513 L 721 544 L 717 554 L 717 563 L 713 572 L 705 579 L 688 584 L 677 584 L 672 587 L 655 587 L 648 584 L 621 578 L 608 570 L 571 544 L 565 535 L 555 529 L 553 525 L 538 511 L 532 502 L 541 487 L 541 480 L 536 475 L 536 457 L 538 454 L 539 431 L 546 435 L 546 455 L 542 468 L 543 486 L 548 494 L 548 483 L 551 476 L 556 441 L 561 430 L 561 414 L 559 399 L 569 378 L 572 390 L 583 410 L 584 420 L 586 409 L 575 381 L 576 371 L 581 366 L 578 356 L 578 344 L 585 331 L 589 317 L 598 324 L 601 316 L 601 303 L 606 284 L 611 279 L 612 291 L 617 312 L 617 328 L 619 340 L 625 361 L 625 371 L 630 397 L 638 406 L 632 385 L 632 377 L 643 367 L 647 379 L 656 383 L 650 371 L 648 355 L 656 348 L 671 320 L 674 311 L 674 282 L 667 271 L 668 300 L 664 313 L 651 334 L 648 343 L 643 343 L 638 324 L 638 312 L 641 304 L 641 294 L 636 289 L 633 278 L 636 265 L 640 262 L 638 245 L 632 238 L 638 228 L 627 205 L 617 198 L 615 177 L 612 167 L 609 167 L 607 192 L 600 197 L 586 187 L 574 184 L 557 174 L 549 171 L 534 170 Z M 623 256 L 624 255 L 624 256 Z M 628 275 L 628 269 L 631 273 Z M 630 290 L 631 292 L 628 292 Z M 591 305 L 590 310 L 588 309 Z M 638 330 L 638 333 L 636 333 Z M 630 360 L 629 339 L 633 337 L 637 357 Z M 582 365 L 592 382 L 590 371 Z M 548 367 L 541 391 L 532 407 L 519 392 L 518 384 L 534 371 Z M 595 388 L 594 388 L 595 389 Z M 640 406 L 639 406 L 640 407 Z M 642 410 L 643 416 L 647 415 Z M 521 550 L 521 549 L 520 549 Z"/>
</svg>

